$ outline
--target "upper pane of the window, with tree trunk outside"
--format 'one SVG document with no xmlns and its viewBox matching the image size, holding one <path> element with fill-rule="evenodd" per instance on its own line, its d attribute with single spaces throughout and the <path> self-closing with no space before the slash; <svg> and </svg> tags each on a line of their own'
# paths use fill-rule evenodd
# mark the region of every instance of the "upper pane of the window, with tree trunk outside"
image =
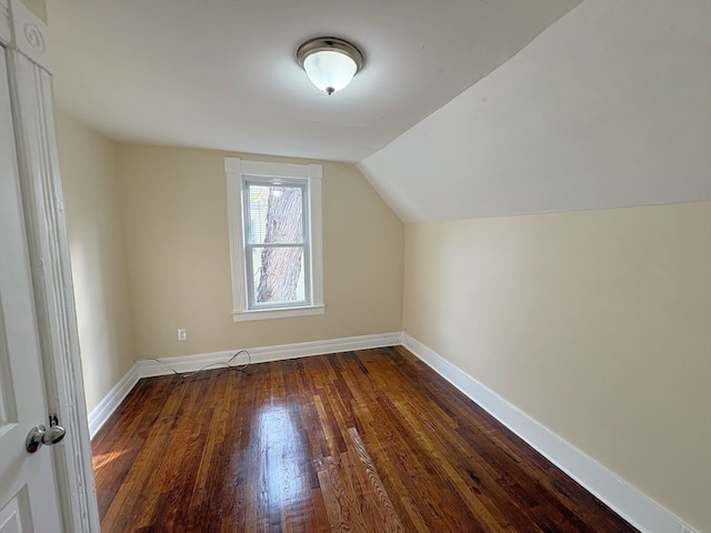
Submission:
<svg viewBox="0 0 711 533">
<path fill-rule="evenodd" d="M 303 243 L 303 189 L 249 185 L 250 243 Z"/>
</svg>

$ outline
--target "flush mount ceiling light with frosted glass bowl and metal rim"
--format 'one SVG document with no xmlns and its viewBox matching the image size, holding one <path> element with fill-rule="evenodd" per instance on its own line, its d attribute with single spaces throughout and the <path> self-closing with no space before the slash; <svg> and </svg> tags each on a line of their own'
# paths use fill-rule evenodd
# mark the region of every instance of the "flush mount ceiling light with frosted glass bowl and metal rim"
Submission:
<svg viewBox="0 0 711 533">
<path fill-rule="evenodd" d="M 299 47 L 299 64 L 316 87 L 333 94 L 348 86 L 363 68 L 363 54 L 353 44 L 334 37 L 319 37 Z"/>
</svg>

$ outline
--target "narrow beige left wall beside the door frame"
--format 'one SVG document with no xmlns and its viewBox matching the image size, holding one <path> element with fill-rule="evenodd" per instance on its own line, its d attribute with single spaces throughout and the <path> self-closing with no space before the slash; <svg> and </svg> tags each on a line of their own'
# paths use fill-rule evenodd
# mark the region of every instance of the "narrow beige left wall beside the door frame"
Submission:
<svg viewBox="0 0 711 533">
<path fill-rule="evenodd" d="M 136 354 L 121 234 L 117 152 L 108 139 L 54 113 L 81 363 L 91 411 Z"/>
</svg>

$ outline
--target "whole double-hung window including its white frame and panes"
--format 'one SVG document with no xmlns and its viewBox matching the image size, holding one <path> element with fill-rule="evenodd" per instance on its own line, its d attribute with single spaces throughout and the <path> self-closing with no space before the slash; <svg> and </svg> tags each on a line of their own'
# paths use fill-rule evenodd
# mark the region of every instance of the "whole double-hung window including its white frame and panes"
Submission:
<svg viewBox="0 0 711 533">
<path fill-rule="evenodd" d="M 320 164 L 224 159 L 232 318 L 321 314 Z"/>
</svg>

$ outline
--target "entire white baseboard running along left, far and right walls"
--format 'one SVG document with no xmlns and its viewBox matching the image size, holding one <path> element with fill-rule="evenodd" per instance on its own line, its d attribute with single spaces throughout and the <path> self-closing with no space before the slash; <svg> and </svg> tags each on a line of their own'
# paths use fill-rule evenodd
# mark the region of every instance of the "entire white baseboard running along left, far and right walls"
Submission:
<svg viewBox="0 0 711 533">
<path fill-rule="evenodd" d="M 695 533 L 691 526 L 684 524 L 659 503 L 625 483 L 614 473 L 577 450 L 548 428 L 531 419 L 528 414 L 407 333 L 382 333 L 253 348 L 249 349 L 249 352 L 252 363 L 263 363 L 398 344 L 403 344 L 447 381 L 481 405 L 481 408 L 640 531 L 648 533 Z M 164 361 L 178 372 L 194 372 L 208 364 L 226 362 L 236 351 L 167 358 Z M 237 364 L 244 362 L 244 355 L 240 355 L 234 361 Z M 89 413 L 89 433 L 91 438 L 97 434 L 128 393 L 136 386 L 139 379 L 170 374 L 172 372 L 170 368 L 151 360 L 138 361 Z"/>
</svg>

